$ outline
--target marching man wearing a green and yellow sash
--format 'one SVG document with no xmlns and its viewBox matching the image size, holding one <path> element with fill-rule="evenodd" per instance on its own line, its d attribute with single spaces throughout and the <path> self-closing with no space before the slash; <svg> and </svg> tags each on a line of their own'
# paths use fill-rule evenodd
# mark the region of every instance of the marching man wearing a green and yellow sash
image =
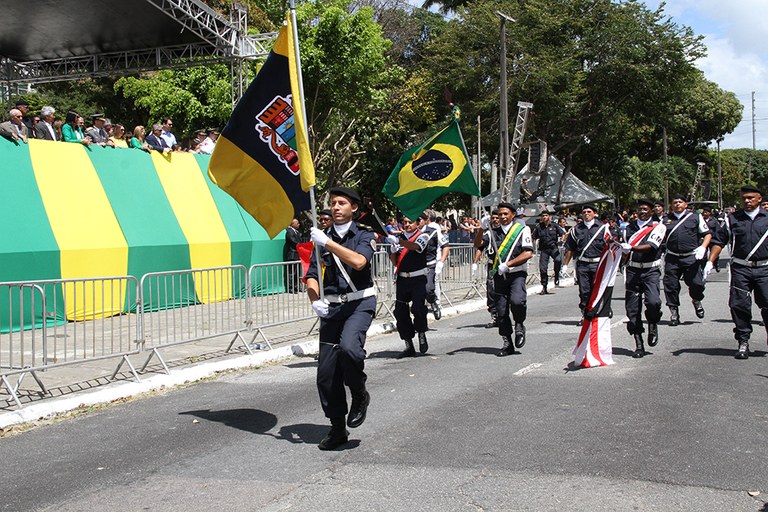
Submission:
<svg viewBox="0 0 768 512">
<path fill-rule="evenodd" d="M 497 253 L 493 260 L 493 292 L 496 299 L 496 318 L 503 340 L 499 357 L 515 353 L 515 348 L 525 345 L 525 316 L 528 294 L 525 280 L 528 277 L 528 260 L 533 257 L 531 228 L 515 222 L 515 209 L 509 203 L 499 203 L 499 227 L 492 229 Z M 512 322 L 515 320 L 515 341 L 512 342 Z"/>
</svg>

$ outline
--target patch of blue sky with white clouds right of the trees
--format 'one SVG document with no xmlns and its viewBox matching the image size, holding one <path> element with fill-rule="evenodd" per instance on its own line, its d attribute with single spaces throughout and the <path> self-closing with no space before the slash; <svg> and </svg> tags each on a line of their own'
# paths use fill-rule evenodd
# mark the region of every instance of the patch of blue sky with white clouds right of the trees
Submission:
<svg viewBox="0 0 768 512">
<path fill-rule="evenodd" d="M 649 9 L 661 3 L 644 1 Z M 768 149 L 768 0 L 667 0 L 664 13 L 704 36 L 707 56 L 696 66 L 744 106 L 741 124 L 720 147 L 752 147 L 754 92 L 755 148 Z"/>
</svg>

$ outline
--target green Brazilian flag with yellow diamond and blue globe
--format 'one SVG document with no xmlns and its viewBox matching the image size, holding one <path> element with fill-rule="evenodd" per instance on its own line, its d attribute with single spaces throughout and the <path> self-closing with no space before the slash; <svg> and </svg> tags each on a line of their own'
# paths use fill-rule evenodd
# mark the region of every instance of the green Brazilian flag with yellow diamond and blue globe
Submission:
<svg viewBox="0 0 768 512">
<path fill-rule="evenodd" d="M 383 192 L 411 219 L 448 192 L 480 195 L 459 129 L 458 108 L 451 124 L 403 153 Z"/>
</svg>

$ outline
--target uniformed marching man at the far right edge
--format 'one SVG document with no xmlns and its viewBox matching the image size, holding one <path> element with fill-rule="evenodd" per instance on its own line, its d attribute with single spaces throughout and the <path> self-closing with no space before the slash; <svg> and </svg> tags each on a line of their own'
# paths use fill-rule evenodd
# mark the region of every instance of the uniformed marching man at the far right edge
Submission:
<svg viewBox="0 0 768 512">
<path fill-rule="evenodd" d="M 741 187 L 741 210 L 729 214 L 718 230 L 704 278 L 712 271 L 722 246 L 731 248 L 731 308 L 733 329 L 739 348 L 736 359 L 749 357 L 749 337 L 752 334 L 752 293 L 768 329 L 768 211 L 760 208 L 763 195 L 752 186 Z"/>
</svg>

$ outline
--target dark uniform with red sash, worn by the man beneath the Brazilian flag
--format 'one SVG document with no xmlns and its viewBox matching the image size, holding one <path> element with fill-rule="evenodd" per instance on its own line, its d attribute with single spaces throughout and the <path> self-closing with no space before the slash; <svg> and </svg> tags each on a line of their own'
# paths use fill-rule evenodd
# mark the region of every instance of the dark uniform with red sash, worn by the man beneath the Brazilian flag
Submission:
<svg viewBox="0 0 768 512">
<path fill-rule="evenodd" d="M 415 237 L 414 237 L 415 236 Z M 401 235 L 403 240 L 411 240 L 418 244 L 419 249 L 400 248 L 399 258 L 403 251 L 405 255 L 397 267 L 397 290 L 395 295 L 395 320 L 400 339 L 408 342 L 413 340 L 416 333 L 427 332 L 427 255 L 424 249 L 429 241 L 429 235 L 418 231 Z M 408 304 L 411 304 L 410 312 Z M 413 319 L 411 319 L 411 312 Z"/>
</svg>

